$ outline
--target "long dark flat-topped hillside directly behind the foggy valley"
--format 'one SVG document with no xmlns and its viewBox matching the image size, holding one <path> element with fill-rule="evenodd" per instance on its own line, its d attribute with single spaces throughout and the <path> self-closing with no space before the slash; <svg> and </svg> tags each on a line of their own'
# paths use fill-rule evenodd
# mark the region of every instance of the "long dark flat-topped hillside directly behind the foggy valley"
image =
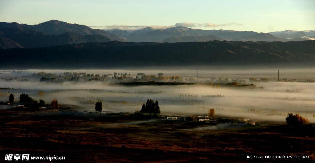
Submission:
<svg viewBox="0 0 315 163">
<path fill-rule="evenodd" d="M 190 65 L 315 65 L 315 41 L 90 42 L 0 50 L 0 68 L 108 68 Z M 14 56 L 14 59 L 9 59 Z"/>
</svg>

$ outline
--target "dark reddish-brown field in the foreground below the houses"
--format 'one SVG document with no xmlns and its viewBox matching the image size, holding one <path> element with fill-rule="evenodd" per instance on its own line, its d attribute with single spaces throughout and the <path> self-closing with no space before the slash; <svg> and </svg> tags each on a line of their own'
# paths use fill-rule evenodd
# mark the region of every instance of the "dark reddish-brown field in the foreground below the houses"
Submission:
<svg viewBox="0 0 315 163">
<path fill-rule="evenodd" d="M 1 162 L 5 154 L 66 157 L 37 162 L 315 162 L 312 126 L 209 125 L 15 111 L 0 111 L 0 115 Z M 220 125 L 226 126 L 211 130 Z M 248 159 L 248 155 L 309 158 Z"/>
</svg>

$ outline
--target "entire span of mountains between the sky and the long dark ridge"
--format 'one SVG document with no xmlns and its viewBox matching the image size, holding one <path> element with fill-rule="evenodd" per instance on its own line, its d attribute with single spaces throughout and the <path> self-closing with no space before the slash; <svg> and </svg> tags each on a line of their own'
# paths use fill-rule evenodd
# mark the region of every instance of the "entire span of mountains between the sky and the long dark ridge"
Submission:
<svg viewBox="0 0 315 163">
<path fill-rule="evenodd" d="M 136 31 L 92 29 L 86 25 L 50 20 L 37 25 L 0 22 L 0 48 L 40 48 L 86 42 L 207 42 L 207 41 L 304 41 L 315 40 L 315 31 L 201 30 L 182 26 L 166 29 L 146 27 Z"/>
</svg>

